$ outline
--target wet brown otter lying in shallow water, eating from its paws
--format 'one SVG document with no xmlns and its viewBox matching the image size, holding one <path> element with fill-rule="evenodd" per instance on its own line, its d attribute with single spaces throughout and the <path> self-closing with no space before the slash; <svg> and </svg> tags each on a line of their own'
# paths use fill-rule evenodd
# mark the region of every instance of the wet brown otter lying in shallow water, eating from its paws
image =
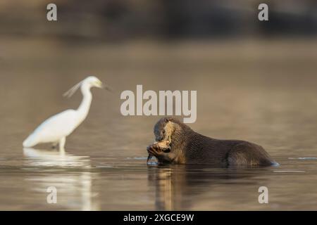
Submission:
<svg viewBox="0 0 317 225">
<path fill-rule="evenodd" d="M 277 165 L 266 150 L 255 143 L 212 139 L 173 117 L 161 118 L 154 126 L 154 135 L 158 142 L 147 147 L 148 160 L 154 156 L 159 164 Z"/>
</svg>

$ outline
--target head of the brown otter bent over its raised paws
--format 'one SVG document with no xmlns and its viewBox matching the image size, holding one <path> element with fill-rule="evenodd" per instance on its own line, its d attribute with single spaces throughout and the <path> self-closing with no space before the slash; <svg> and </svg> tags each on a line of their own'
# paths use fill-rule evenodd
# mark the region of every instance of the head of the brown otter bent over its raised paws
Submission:
<svg viewBox="0 0 317 225">
<path fill-rule="evenodd" d="M 172 142 L 173 135 L 182 131 L 183 127 L 187 127 L 179 120 L 173 117 L 163 117 L 154 126 L 155 141 Z"/>
</svg>

